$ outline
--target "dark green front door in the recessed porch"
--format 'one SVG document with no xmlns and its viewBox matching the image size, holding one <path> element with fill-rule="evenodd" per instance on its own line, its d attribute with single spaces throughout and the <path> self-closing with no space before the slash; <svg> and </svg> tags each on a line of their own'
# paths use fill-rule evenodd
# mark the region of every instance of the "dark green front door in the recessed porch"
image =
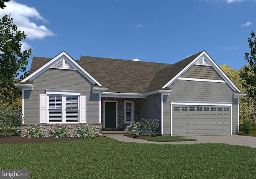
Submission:
<svg viewBox="0 0 256 179">
<path fill-rule="evenodd" d="M 105 128 L 116 128 L 116 102 L 105 102 Z"/>
</svg>

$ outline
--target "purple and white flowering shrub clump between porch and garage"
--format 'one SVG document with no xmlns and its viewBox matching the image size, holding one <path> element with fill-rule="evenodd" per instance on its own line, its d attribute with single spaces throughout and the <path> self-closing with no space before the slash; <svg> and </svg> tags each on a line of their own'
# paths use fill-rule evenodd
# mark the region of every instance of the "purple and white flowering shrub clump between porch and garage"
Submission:
<svg viewBox="0 0 256 179">
<path fill-rule="evenodd" d="M 141 119 L 140 122 L 131 123 L 126 127 L 125 131 L 129 131 L 132 135 L 156 136 L 158 129 L 158 119 Z"/>
</svg>

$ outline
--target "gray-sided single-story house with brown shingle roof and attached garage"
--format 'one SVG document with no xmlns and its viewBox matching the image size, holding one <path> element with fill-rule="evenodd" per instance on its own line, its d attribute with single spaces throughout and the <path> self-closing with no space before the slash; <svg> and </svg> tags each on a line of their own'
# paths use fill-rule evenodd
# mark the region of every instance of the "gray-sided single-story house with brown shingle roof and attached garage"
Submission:
<svg viewBox="0 0 256 179">
<path fill-rule="evenodd" d="M 124 130 L 159 119 L 162 135 L 232 135 L 243 94 L 199 52 L 175 64 L 81 56 L 34 57 L 22 91 L 24 125 L 91 123 Z"/>
</svg>

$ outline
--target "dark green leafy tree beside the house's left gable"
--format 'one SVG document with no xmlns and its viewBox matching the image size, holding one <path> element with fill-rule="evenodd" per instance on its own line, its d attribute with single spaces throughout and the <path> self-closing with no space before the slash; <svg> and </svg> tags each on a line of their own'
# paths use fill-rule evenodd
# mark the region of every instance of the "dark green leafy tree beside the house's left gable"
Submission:
<svg viewBox="0 0 256 179">
<path fill-rule="evenodd" d="M 24 39 L 24 31 L 17 30 L 10 14 L 5 15 L 0 20 L 0 93 L 5 97 L 13 88 L 14 78 L 23 79 L 28 74 L 26 65 L 31 49 L 21 52 L 20 42 Z"/>
</svg>

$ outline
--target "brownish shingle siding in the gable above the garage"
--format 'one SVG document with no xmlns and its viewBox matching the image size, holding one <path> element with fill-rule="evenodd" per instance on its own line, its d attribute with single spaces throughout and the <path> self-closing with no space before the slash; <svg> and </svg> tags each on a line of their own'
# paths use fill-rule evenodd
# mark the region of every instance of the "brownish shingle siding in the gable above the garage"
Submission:
<svg viewBox="0 0 256 179">
<path fill-rule="evenodd" d="M 182 78 L 198 78 L 208 80 L 223 80 L 212 66 L 193 65 L 182 76 Z"/>
</svg>

